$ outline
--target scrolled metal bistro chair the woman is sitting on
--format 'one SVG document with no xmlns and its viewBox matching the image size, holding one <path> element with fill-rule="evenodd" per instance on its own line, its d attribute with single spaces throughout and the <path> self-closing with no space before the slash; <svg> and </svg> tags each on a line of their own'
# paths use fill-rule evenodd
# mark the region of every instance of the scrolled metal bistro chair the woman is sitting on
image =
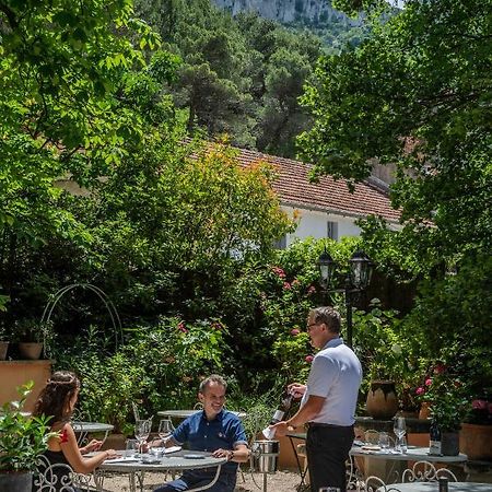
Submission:
<svg viewBox="0 0 492 492">
<path fill-rule="evenodd" d="M 51 464 L 42 455 L 34 475 L 33 492 L 89 492 L 92 476 L 75 473 L 69 465 Z"/>
</svg>

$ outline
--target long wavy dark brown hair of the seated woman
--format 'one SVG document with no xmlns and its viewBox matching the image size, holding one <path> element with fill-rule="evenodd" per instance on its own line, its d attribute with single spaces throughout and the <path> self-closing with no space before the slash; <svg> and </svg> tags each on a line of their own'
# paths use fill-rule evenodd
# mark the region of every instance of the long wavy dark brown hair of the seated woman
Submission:
<svg viewBox="0 0 492 492">
<path fill-rule="evenodd" d="M 34 417 L 51 417 L 51 425 L 70 419 L 68 403 L 80 388 L 79 378 L 69 371 L 57 371 L 46 383 L 34 406 Z"/>
</svg>

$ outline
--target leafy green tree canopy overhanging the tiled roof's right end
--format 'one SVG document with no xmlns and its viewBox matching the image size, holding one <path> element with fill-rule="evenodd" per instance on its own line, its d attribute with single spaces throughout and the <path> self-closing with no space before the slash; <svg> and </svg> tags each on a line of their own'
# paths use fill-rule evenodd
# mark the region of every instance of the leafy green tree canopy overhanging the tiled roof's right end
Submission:
<svg viewBox="0 0 492 492">
<path fill-rule="evenodd" d="M 304 155 L 356 180 L 373 160 L 396 164 L 400 247 L 424 269 L 490 251 L 492 3 L 410 0 L 394 16 L 368 4 L 372 35 L 324 57 L 304 96 Z"/>
</svg>

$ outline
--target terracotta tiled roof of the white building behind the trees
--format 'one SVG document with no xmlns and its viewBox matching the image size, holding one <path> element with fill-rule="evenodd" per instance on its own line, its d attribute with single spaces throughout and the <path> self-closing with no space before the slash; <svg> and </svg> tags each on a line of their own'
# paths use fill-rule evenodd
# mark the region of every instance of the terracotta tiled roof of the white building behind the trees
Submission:
<svg viewBox="0 0 492 492">
<path fill-rule="evenodd" d="M 273 188 L 282 204 L 358 218 L 375 214 L 391 222 L 398 222 L 400 218 L 399 211 L 391 208 L 388 194 L 370 183 L 356 184 L 352 194 L 344 179 L 321 176 L 319 183 L 309 183 L 311 164 L 246 149 L 238 151 L 243 165 L 261 160 L 276 167 L 278 176 Z"/>
</svg>

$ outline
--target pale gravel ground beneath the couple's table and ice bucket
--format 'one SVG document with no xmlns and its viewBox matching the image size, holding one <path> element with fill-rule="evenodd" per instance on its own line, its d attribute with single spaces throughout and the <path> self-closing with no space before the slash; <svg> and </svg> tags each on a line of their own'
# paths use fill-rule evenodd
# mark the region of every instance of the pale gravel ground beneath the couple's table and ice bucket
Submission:
<svg viewBox="0 0 492 492">
<path fill-rule="evenodd" d="M 163 473 L 145 475 L 144 490 L 152 491 L 155 487 L 165 482 Z M 168 479 L 169 480 L 169 479 Z M 292 471 L 277 471 L 267 475 L 267 492 L 296 492 L 301 479 Z M 128 477 L 125 475 L 108 476 L 104 480 L 105 492 L 128 492 Z M 263 475 L 244 471 L 237 476 L 235 492 L 260 492 L 263 490 Z"/>
</svg>

